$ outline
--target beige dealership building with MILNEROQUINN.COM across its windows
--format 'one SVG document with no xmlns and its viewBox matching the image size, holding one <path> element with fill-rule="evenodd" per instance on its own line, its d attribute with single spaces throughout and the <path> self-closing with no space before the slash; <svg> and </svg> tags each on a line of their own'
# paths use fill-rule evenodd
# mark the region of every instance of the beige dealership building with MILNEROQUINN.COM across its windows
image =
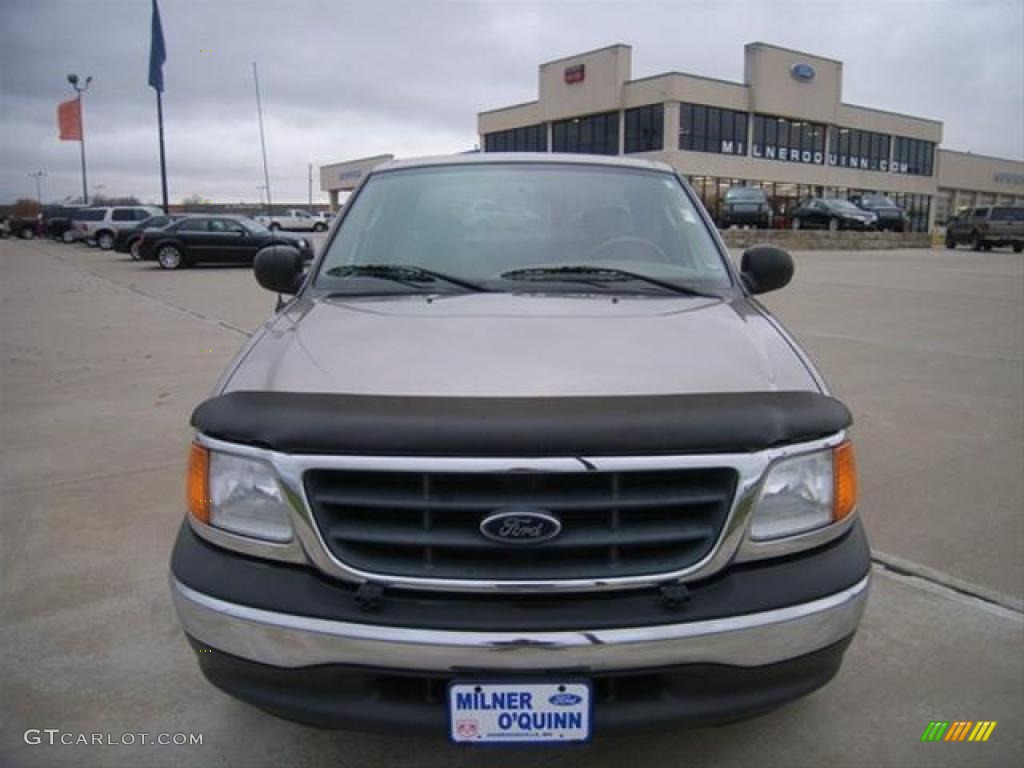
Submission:
<svg viewBox="0 0 1024 768">
<path fill-rule="evenodd" d="M 845 102 L 841 61 L 751 43 L 739 83 L 634 80 L 632 56 L 620 44 L 541 65 L 536 101 L 477 116 L 481 150 L 659 160 L 713 215 L 730 186 L 764 188 L 780 225 L 808 196 L 883 193 L 916 231 L 962 207 L 1024 204 L 1024 163 L 943 150 L 940 121 Z"/>
</svg>

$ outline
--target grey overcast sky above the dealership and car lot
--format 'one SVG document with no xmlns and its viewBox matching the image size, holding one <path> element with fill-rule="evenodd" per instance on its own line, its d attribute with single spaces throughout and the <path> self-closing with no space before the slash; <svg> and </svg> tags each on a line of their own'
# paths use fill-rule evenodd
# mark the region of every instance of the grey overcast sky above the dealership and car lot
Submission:
<svg viewBox="0 0 1024 768">
<path fill-rule="evenodd" d="M 0 203 L 81 193 L 79 145 L 58 141 L 69 72 L 91 75 L 89 186 L 160 195 L 151 0 L 3 0 Z M 275 201 L 304 201 L 316 167 L 460 152 L 476 113 L 537 98 L 540 62 L 623 42 L 633 77 L 742 80 L 760 40 L 845 62 L 845 101 L 934 118 L 943 145 L 1024 158 L 1024 1 L 351 2 L 161 0 L 170 199 L 255 201 L 259 61 Z"/>
</svg>

